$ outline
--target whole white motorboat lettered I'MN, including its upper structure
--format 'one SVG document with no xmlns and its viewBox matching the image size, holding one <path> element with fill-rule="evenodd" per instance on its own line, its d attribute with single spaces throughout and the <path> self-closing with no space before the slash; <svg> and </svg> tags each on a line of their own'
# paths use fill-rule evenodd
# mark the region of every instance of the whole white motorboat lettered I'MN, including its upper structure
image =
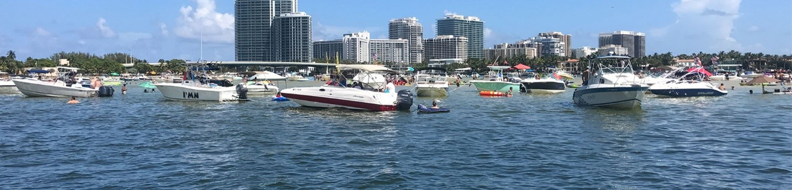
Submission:
<svg viewBox="0 0 792 190">
<path fill-rule="evenodd" d="M 193 63 L 189 72 L 207 70 L 206 63 Z M 154 83 L 157 89 L 171 101 L 238 101 L 234 87 L 212 86 L 206 78 L 196 78 L 188 74 L 188 80 L 181 83 Z M 204 75 L 206 75 L 204 73 Z"/>
</svg>

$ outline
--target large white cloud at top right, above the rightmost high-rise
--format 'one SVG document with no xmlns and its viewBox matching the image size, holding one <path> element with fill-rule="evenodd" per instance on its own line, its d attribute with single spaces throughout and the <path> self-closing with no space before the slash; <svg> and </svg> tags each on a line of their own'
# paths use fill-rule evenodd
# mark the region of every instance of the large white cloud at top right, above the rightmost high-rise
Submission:
<svg viewBox="0 0 792 190">
<path fill-rule="evenodd" d="M 663 28 L 650 30 L 647 39 L 657 38 L 657 44 L 676 46 L 683 51 L 702 45 L 710 51 L 741 50 L 742 45 L 732 37 L 734 20 L 739 16 L 741 0 L 681 0 L 672 3 L 676 21 Z M 665 40 L 664 40 L 665 39 Z M 677 39 L 669 41 L 668 39 Z M 685 48 L 687 47 L 687 48 Z"/>
</svg>

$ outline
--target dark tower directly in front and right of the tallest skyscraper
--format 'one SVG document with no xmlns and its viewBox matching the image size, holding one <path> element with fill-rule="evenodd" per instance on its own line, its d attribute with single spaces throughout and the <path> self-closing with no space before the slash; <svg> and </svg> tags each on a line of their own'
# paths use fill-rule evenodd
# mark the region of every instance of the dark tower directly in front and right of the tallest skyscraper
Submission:
<svg viewBox="0 0 792 190">
<path fill-rule="evenodd" d="M 304 12 L 283 13 L 272 19 L 275 61 L 310 62 L 314 49 L 310 24 L 310 15 Z"/>
</svg>

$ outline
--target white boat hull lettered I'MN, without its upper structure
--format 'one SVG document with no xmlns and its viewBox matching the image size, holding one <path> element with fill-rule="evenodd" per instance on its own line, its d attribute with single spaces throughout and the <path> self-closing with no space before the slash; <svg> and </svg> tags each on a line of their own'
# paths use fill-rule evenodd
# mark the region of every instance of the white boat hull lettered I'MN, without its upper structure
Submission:
<svg viewBox="0 0 792 190">
<path fill-rule="evenodd" d="M 157 86 L 162 97 L 171 101 L 238 101 L 233 87 L 203 88 L 175 83 L 158 83 L 154 86 Z"/>
</svg>

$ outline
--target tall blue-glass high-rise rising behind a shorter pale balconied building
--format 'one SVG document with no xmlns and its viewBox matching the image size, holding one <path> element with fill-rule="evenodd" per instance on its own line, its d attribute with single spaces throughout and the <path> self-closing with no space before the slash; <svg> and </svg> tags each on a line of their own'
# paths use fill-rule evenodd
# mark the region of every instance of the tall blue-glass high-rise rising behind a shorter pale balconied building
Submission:
<svg viewBox="0 0 792 190">
<path fill-rule="evenodd" d="M 467 39 L 468 58 L 484 58 L 484 21 L 478 17 L 447 14 L 437 19 L 437 36 L 449 35 Z"/>
</svg>

